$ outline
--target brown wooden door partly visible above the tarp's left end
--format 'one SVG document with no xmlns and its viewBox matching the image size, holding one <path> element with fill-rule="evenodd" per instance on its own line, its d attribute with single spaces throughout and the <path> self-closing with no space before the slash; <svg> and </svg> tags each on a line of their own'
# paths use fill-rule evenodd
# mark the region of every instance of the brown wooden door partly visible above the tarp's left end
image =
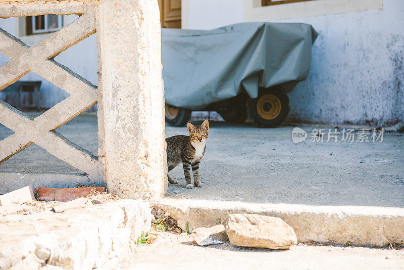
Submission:
<svg viewBox="0 0 404 270">
<path fill-rule="evenodd" d="M 160 23 L 164 28 L 181 28 L 181 0 L 159 0 Z"/>
</svg>

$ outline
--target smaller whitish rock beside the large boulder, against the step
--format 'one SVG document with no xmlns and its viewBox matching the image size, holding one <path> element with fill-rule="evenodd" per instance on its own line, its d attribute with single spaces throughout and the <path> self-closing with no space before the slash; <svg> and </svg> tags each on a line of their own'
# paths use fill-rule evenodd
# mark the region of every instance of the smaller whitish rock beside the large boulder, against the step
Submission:
<svg viewBox="0 0 404 270">
<path fill-rule="evenodd" d="M 229 240 L 222 224 L 211 228 L 196 228 L 192 231 L 191 238 L 199 246 L 222 244 Z"/>
</svg>

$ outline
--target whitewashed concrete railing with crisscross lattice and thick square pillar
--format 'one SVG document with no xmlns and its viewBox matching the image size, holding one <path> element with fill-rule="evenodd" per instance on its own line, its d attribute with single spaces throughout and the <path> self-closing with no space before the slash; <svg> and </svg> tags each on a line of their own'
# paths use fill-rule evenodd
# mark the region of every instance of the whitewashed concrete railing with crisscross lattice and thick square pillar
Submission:
<svg viewBox="0 0 404 270">
<path fill-rule="evenodd" d="M 33 47 L 0 28 L 0 52 L 11 58 L 0 67 L 0 91 L 33 71 L 70 96 L 35 118 L 0 100 L 0 123 L 15 132 L 0 141 L 0 163 L 36 144 L 121 197 L 160 197 L 166 158 L 157 1 L 0 2 L 2 18 L 44 14 L 79 18 Z M 95 32 L 98 87 L 54 60 Z M 96 103 L 98 157 L 55 131 Z M 58 181 L 70 176 L 55 174 Z M 0 173 L 0 186 L 8 177 Z"/>
</svg>

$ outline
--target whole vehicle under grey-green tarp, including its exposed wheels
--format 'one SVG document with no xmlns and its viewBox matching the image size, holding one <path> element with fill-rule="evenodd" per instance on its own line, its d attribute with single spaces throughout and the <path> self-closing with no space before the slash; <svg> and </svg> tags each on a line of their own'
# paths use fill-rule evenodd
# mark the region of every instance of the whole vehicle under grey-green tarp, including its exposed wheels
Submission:
<svg viewBox="0 0 404 270">
<path fill-rule="evenodd" d="M 305 80 L 317 32 L 304 23 L 239 23 L 214 30 L 162 29 L 166 121 L 193 110 L 259 126 L 289 113 L 286 93 Z"/>
</svg>

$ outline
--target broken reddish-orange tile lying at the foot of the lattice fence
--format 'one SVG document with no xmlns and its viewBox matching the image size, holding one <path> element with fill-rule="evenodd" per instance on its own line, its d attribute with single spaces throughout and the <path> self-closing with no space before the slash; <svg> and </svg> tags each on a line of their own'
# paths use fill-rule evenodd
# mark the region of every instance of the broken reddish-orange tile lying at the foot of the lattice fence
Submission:
<svg viewBox="0 0 404 270">
<path fill-rule="evenodd" d="M 105 187 L 85 187 L 85 188 L 67 188 L 67 189 L 53 189 L 53 188 L 38 188 L 38 199 L 43 201 L 60 201 L 67 202 L 77 198 L 86 197 L 90 195 L 91 190 L 98 192 L 105 192 Z"/>
</svg>

